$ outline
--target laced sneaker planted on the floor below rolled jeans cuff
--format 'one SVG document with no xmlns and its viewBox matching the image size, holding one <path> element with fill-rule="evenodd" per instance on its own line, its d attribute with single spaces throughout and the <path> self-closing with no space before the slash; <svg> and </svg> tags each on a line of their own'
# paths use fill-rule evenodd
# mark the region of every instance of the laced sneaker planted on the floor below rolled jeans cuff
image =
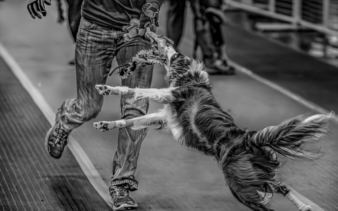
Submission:
<svg viewBox="0 0 338 211">
<path fill-rule="evenodd" d="M 114 210 L 133 210 L 137 208 L 136 202 L 129 195 L 129 190 L 124 186 L 110 186 L 109 194 L 112 196 L 110 203 L 113 204 Z"/>
</svg>

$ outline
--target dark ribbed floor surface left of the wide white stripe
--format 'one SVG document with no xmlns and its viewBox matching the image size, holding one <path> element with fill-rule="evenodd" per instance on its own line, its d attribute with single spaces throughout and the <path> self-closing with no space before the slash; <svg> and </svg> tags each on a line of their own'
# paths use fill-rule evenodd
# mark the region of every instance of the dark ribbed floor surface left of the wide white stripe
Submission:
<svg viewBox="0 0 338 211">
<path fill-rule="evenodd" d="M 71 153 L 45 150 L 46 118 L 0 58 L 0 211 L 112 210 Z"/>
</svg>

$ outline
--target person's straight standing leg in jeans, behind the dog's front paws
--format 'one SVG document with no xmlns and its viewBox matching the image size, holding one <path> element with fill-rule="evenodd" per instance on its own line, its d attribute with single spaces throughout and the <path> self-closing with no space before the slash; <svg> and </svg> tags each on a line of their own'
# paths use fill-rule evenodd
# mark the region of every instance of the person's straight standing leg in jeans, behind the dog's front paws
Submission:
<svg viewBox="0 0 338 211">
<path fill-rule="evenodd" d="M 140 50 L 150 49 L 150 43 L 141 38 L 127 43 L 123 43 L 123 33 L 119 35 L 121 48 L 118 50 L 116 60 L 118 65 L 131 62 Z M 119 47 L 118 47 L 119 48 Z M 122 86 L 130 88 L 144 87 L 150 88 L 152 79 L 153 65 L 146 65 L 137 68 L 132 74 L 122 79 Z M 134 95 L 121 96 L 121 119 L 130 119 L 145 115 L 148 111 L 149 102 L 134 101 Z M 131 199 L 129 191 L 135 191 L 138 188 L 138 182 L 135 179 L 137 160 L 141 148 L 141 143 L 146 136 L 146 130 L 132 130 L 131 127 L 119 129 L 118 149 L 113 159 L 113 176 L 109 192 L 112 196 L 111 203 L 115 210 L 133 209 L 137 207 L 134 200 Z"/>
</svg>

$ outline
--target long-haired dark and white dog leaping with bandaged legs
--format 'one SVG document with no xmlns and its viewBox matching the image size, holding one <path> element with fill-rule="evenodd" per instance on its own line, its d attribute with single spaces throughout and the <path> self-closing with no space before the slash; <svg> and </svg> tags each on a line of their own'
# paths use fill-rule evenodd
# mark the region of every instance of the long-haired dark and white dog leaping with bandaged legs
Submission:
<svg viewBox="0 0 338 211">
<path fill-rule="evenodd" d="M 278 157 L 280 154 L 294 160 L 314 159 L 315 155 L 303 144 L 318 141 L 327 132 L 328 118 L 333 114 L 317 114 L 303 121 L 293 118 L 259 131 L 244 130 L 213 97 L 203 63 L 175 52 L 170 43 L 154 34 L 151 38 L 156 55 L 167 57 L 162 61 L 169 78 L 168 88 L 96 85 L 96 89 L 102 95 L 134 94 L 135 100 L 153 99 L 164 107 L 128 120 L 96 122 L 94 127 L 101 131 L 127 126 L 135 130 L 148 126 L 168 129 L 182 145 L 215 158 L 233 195 L 252 210 L 271 210 L 266 206 L 264 193 L 280 193 L 300 211 L 312 210 L 294 196 L 282 179 L 275 177 L 281 167 Z M 155 58 L 154 53 L 148 52 L 147 56 Z M 135 61 L 138 59 L 137 56 Z"/>
</svg>

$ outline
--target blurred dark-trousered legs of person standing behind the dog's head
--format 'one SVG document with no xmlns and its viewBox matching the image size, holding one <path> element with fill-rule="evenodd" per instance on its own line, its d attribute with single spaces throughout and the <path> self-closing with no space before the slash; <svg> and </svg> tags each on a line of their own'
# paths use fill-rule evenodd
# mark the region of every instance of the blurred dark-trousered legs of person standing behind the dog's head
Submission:
<svg viewBox="0 0 338 211">
<path fill-rule="evenodd" d="M 172 39 L 173 47 L 177 50 L 184 27 L 186 1 L 169 1 L 167 36 Z M 221 0 L 189 0 L 189 2 L 195 16 L 196 38 L 193 57 L 196 58 L 196 51 L 200 46 L 203 52 L 203 61 L 208 69 L 216 70 L 221 74 L 234 74 L 234 68 L 227 62 L 225 40 L 222 37 L 221 24 L 225 18 L 220 10 Z"/>
</svg>

